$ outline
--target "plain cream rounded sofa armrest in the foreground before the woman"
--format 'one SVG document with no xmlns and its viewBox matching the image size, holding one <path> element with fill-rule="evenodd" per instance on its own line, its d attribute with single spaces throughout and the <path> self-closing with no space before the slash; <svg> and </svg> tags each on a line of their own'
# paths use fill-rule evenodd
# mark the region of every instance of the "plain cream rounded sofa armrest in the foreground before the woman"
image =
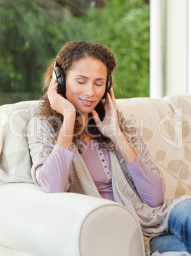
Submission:
<svg viewBox="0 0 191 256">
<path fill-rule="evenodd" d="M 140 224 L 128 208 L 37 185 L 0 186 L 0 246 L 39 256 L 144 255 Z"/>
</svg>

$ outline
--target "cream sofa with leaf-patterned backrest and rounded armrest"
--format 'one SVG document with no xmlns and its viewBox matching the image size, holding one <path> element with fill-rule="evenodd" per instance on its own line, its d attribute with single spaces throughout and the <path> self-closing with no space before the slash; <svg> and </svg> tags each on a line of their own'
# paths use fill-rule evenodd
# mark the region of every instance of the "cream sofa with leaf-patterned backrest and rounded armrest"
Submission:
<svg viewBox="0 0 191 256">
<path fill-rule="evenodd" d="M 166 197 L 191 195 L 191 96 L 116 101 L 142 131 Z M 34 184 L 26 132 L 38 104 L 0 107 L 0 255 L 144 255 L 140 225 L 121 204 Z"/>
</svg>

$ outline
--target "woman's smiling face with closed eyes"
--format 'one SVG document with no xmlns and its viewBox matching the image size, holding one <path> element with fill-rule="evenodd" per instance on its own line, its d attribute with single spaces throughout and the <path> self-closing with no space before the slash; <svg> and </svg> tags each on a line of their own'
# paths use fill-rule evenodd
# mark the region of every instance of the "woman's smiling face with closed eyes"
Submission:
<svg viewBox="0 0 191 256">
<path fill-rule="evenodd" d="M 107 67 L 91 57 L 78 60 L 66 76 L 67 100 L 76 110 L 90 113 L 105 92 Z"/>
</svg>

